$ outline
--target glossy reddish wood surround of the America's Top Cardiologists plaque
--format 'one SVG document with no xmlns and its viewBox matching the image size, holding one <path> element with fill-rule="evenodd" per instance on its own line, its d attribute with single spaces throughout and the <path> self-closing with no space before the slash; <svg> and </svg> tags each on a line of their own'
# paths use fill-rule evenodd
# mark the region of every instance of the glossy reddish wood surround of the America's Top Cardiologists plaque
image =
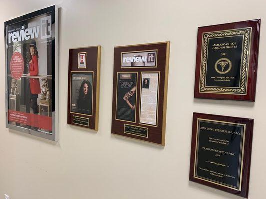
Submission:
<svg viewBox="0 0 266 199">
<path fill-rule="evenodd" d="M 261 20 L 256 19 L 256 20 L 250 20 L 250 21 L 241 21 L 241 22 L 235 22 L 235 23 L 211 25 L 211 26 L 204 26 L 204 27 L 198 28 L 194 98 L 255 101 L 260 23 L 261 23 Z M 221 30 L 232 30 L 232 29 L 238 29 L 238 28 L 244 28 L 244 27 L 252 27 L 251 47 L 250 47 L 250 57 L 249 57 L 249 71 L 248 71 L 248 81 L 247 81 L 247 95 L 200 93 L 199 84 L 200 84 L 200 67 L 201 67 L 203 33 L 221 31 Z"/>
</svg>

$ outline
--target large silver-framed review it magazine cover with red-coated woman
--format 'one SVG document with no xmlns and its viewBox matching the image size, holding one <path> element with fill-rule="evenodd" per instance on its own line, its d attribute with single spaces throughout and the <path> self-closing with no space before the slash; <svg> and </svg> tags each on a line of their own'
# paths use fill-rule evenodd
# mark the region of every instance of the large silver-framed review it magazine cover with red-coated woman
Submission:
<svg viewBox="0 0 266 199">
<path fill-rule="evenodd" d="M 57 141 L 57 7 L 4 25 L 6 127 Z"/>
</svg>

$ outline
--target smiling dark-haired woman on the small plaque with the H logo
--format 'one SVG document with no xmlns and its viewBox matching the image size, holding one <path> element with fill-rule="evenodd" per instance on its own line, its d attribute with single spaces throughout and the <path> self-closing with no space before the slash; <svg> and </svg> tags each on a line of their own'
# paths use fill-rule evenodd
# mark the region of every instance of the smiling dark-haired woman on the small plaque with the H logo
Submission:
<svg viewBox="0 0 266 199">
<path fill-rule="evenodd" d="M 92 86 L 88 80 L 84 80 L 79 88 L 79 98 L 77 108 L 79 113 L 91 115 L 92 106 Z"/>
</svg>

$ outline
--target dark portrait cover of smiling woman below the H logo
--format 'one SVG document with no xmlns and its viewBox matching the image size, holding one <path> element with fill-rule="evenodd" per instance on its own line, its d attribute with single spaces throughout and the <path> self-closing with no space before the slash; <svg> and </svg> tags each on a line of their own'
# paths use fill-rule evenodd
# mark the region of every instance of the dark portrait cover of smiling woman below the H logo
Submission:
<svg viewBox="0 0 266 199">
<path fill-rule="evenodd" d="M 92 115 L 92 72 L 71 73 L 71 112 Z"/>
</svg>

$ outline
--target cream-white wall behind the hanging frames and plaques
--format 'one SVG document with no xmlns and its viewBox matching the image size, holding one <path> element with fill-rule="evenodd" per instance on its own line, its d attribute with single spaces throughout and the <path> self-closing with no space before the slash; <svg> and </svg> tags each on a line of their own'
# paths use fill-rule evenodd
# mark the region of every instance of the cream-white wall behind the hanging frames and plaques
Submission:
<svg viewBox="0 0 266 199">
<path fill-rule="evenodd" d="M 266 196 L 264 0 L 4 0 L 4 21 L 59 9 L 59 142 L 5 128 L 0 73 L 0 199 L 239 199 L 189 182 L 192 113 L 254 118 L 250 199 Z M 193 98 L 197 27 L 262 19 L 256 102 Z M 111 135 L 114 46 L 171 41 L 166 146 Z M 99 131 L 67 125 L 68 50 L 102 46 Z"/>
</svg>

